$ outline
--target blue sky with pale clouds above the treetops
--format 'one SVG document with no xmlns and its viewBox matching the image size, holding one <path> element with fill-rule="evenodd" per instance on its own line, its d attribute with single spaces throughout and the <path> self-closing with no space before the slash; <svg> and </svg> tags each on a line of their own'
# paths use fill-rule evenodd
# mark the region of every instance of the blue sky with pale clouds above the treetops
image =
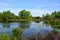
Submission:
<svg viewBox="0 0 60 40">
<path fill-rule="evenodd" d="M 42 16 L 53 11 L 60 11 L 60 0 L 0 0 L 0 12 L 10 10 L 18 12 L 26 9 L 32 16 Z"/>
</svg>

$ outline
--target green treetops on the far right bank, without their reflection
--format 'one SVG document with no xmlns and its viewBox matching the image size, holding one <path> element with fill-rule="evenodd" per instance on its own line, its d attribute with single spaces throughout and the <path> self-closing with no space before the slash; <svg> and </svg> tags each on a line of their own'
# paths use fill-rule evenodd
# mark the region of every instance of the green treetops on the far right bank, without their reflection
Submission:
<svg viewBox="0 0 60 40">
<path fill-rule="evenodd" d="M 46 15 L 43 15 L 43 18 L 44 19 L 47 19 L 47 20 L 59 20 L 60 19 L 60 11 L 54 11 L 54 12 L 52 12 L 51 13 L 51 15 L 50 14 L 46 14 Z"/>
</svg>

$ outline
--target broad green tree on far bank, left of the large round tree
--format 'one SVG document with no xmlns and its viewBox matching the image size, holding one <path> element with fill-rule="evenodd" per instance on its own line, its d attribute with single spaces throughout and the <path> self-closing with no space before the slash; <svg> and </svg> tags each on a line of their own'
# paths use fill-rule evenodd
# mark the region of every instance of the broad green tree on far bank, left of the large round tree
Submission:
<svg viewBox="0 0 60 40">
<path fill-rule="evenodd" d="M 9 10 L 3 11 L 3 21 L 11 21 L 11 19 L 16 19 L 16 15 L 14 15 L 14 13 L 10 12 Z"/>
</svg>

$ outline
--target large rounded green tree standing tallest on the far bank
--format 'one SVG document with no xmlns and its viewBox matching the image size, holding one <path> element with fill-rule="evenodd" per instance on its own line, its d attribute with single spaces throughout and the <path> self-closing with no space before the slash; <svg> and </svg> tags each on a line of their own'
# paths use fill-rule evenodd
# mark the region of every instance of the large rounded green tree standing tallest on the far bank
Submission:
<svg viewBox="0 0 60 40">
<path fill-rule="evenodd" d="M 26 11 L 26 10 L 20 11 L 19 16 L 20 16 L 21 19 L 26 20 L 26 21 L 31 20 L 31 18 L 32 18 L 31 12 Z"/>
</svg>

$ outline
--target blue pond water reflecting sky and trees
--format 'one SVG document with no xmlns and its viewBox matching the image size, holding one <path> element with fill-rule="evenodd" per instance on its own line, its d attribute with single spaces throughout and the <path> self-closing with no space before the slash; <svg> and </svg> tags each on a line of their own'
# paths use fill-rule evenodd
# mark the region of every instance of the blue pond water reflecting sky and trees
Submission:
<svg viewBox="0 0 60 40">
<path fill-rule="evenodd" d="M 54 29 L 52 25 L 47 25 L 43 21 L 39 23 L 34 21 L 28 23 L 27 22 L 9 22 L 9 23 L 0 22 L 0 34 L 2 33 L 12 34 L 12 30 L 14 28 L 22 28 L 22 30 L 24 30 L 24 32 L 22 33 L 22 37 L 30 37 L 31 35 L 36 35 L 37 33 L 44 36 Z M 60 29 L 57 30 L 59 35 Z"/>
</svg>

